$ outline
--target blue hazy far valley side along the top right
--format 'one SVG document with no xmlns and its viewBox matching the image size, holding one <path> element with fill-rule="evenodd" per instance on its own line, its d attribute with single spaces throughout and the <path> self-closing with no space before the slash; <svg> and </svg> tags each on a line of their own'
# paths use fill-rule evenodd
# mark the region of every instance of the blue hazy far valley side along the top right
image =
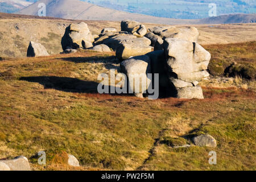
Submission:
<svg viewBox="0 0 256 182">
<path fill-rule="evenodd" d="M 85 0 L 84 0 L 85 1 Z M 215 3 L 217 15 L 226 14 L 253 14 L 256 13 L 255 0 L 183 0 L 183 1 L 129 1 L 129 0 L 92 0 L 96 5 L 110 9 L 139 13 L 151 16 L 176 19 L 201 19 L 209 17 L 209 4 Z"/>
</svg>

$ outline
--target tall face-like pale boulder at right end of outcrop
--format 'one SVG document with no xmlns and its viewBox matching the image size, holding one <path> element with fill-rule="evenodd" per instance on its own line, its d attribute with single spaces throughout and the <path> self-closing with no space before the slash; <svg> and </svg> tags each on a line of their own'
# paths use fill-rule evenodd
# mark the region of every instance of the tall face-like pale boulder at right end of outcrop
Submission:
<svg viewBox="0 0 256 182">
<path fill-rule="evenodd" d="M 172 92 L 177 98 L 204 98 L 198 81 L 208 77 L 210 53 L 197 43 L 165 39 L 166 66 Z M 196 83 L 196 84 L 195 84 Z"/>
</svg>

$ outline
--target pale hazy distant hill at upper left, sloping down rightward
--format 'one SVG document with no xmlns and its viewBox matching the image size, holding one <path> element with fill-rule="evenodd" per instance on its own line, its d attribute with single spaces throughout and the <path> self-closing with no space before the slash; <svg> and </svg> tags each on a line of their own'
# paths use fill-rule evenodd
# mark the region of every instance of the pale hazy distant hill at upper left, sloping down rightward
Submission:
<svg viewBox="0 0 256 182">
<path fill-rule="evenodd" d="M 40 0 L 31 6 L 20 10 L 18 14 L 38 15 L 39 3 L 45 3 L 47 7 L 47 16 L 53 16 L 64 19 L 80 19 L 80 20 L 112 20 L 119 21 L 123 19 L 133 19 L 139 22 L 162 23 L 162 24 L 180 24 L 188 23 L 188 20 L 158 18 L 154 16 L 126 13 L 108 9 L 105 7 L 93 5 L 92 3 L 82 2 L 78 0 Z"/>
</svg>

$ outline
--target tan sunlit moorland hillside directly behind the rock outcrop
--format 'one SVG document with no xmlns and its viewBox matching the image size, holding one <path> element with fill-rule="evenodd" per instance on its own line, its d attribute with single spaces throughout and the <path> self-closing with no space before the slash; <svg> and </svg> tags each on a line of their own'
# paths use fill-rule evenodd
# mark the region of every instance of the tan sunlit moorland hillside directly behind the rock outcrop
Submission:
<svg viewBox="0 0 256 182">
<path fill-rule="evenodd" d="M 72 22 L 81 20 L 67 20 L 49 17 L 17 15 L 0 13 L 0 57 L 26 56 L 29 42 L 42 43 L 47 51 L 59 54 L 62 51 L 61 37 L 65 27 Z M 84 21 L 93 34 L 100 34 L 102 28 L 114 27 L 120 30 L 120 22 L 112 21 Z M 158 24 L 145 23 L 147 28 Z M 184 25 L 186 26 L 186 25 Z M 256 24 L 207 24 L 194 25 L 199 29 L 200 44 L 227 44 L 236 42 L 250 42 L 256 40 Z"/>
</svg>

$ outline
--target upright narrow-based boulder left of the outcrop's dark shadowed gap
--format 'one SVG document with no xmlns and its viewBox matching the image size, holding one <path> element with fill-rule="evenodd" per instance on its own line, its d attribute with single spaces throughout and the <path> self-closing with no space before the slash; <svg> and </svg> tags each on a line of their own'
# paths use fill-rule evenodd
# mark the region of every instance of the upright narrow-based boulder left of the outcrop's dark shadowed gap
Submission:
<svg viewBox="0 0 256 182">
<path fill-rule="evenodd" d="M 128 78 L 129 93 L 143 98 L 143 93 L 151 83 L 151 80 L 147 78 L 147 74 L 151 73 L 150 57 L 147 55 L 132 57 L 122 61 L 120 67 Z"/>
</svg>

